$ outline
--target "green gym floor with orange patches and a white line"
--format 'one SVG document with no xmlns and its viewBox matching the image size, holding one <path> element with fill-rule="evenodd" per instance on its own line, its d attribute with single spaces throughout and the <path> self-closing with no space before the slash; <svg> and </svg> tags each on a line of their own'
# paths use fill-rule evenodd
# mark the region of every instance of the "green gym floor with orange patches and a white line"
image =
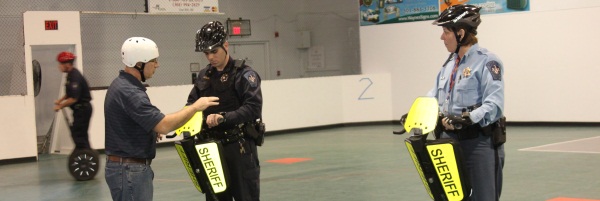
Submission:
<svg viewBox="0 0 600 201">
<path fill-rule="evenodd" d="M 394 125 L 345 126 L 268 135 L 259 147 L 266 201 L 427 201 Z M 501 200 L 600 201 L 600 129 L 596 126 L 509 126 Z M 0 200 L 111 200 L 101 170 L 75 181 L 67 155 L 0 165 Z M 154 200 L 204 200 L 174 147 L 152 162 Z"/>
</svg>

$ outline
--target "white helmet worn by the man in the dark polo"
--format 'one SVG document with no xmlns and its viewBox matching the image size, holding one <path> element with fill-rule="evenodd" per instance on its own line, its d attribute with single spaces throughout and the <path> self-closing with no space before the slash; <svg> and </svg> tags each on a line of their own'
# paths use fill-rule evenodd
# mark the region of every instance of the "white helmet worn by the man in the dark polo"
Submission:
<svg viewBox="0 0 600 201">
<path fill-rule="evenodd" d="M 158 47 L 148 38 L 131 37 L 123 43 L 121 57 L 126 66 L 134 67 L 137 62 L 147 63 L 158 58 Z"/>
</svg>

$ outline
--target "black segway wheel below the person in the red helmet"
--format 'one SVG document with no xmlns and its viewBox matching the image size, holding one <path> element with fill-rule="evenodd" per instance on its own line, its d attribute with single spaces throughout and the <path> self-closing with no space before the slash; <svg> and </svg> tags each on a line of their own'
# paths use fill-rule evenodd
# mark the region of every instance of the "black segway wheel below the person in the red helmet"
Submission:
<svg viewBox="0 0 600 201">
<path fill-rule="evenodd" d="M 91 149 L 76 149 L 69 156 L 69 173 L 78 181 L 93 179 L 100 168 L 98 152 Z"/>
</svg>

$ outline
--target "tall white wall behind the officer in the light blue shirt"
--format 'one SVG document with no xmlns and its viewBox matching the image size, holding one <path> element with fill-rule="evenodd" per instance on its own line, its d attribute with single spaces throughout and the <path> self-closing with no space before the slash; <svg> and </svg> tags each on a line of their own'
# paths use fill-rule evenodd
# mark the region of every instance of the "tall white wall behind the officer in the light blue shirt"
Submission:
<svg viewBox="0 0 600 201">
<path fill-rule="evenodd" d="M 531 1 L 530 12 L 482 16 L 479 44 L 505 66 L 509 121 L 600 122 L 600 1 Z M 360 28 L 363 73 L 391 73 L 394 119 L 425 95 L 448 57 L 431 21 Z"/>
</svg>

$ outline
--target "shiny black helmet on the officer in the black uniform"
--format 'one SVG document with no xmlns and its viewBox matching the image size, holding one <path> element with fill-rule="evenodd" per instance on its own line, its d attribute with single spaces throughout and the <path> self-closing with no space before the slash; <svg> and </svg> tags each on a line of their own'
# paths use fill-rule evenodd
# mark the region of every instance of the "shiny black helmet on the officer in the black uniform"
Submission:
<svg viewBox="0 0 600 201">
<path fill-rule="evenodd" d="M 196 52 L 213 50 L 222 47 L 227 39 L 225 26 L 219 21 L 212 21 L 196 32 Z"/>
</svg>

